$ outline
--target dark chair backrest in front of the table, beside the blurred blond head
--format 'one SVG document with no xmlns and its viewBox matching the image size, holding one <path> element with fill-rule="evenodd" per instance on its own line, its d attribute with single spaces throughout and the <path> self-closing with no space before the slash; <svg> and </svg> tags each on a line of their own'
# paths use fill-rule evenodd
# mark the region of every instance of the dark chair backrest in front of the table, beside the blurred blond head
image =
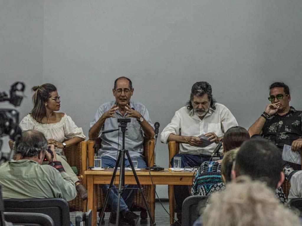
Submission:
<svg viewBox="0 0 302 226">
<path fill-rule="evenodd" d="M 208 196 L 189 196 L 182 203 L 182 226 L 192 226 L 206 206 Z"/>
</svg>

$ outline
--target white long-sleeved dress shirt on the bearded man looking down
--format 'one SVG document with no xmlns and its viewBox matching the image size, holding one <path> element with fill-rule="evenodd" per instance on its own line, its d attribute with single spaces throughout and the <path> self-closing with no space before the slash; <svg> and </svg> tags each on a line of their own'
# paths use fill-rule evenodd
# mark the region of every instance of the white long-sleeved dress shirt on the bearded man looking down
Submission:
<svg viewBox="0 0 302 226">
<path fill-rule="evenodd" d="M 165 129 L 163 129 L 160 140 L 167 143 L 170 134 L 181 136 L 199 136 L 208 132 L 214 132 L 218 137 L 224 135 L 226 130 L 238 123 L 231 111 L 220 103 L 215 103 L 216 109 L 209 108 L 208 113 L 201 120 L 194 110 L 188 110 L 187 106 L 182 107 L 175 112 L 174 117 Z M 200 148 L 189 144 L 181 143 L 179 145 L 179 154 L 205 154 L 210 155 L 217 144 Z"/>
</svg>

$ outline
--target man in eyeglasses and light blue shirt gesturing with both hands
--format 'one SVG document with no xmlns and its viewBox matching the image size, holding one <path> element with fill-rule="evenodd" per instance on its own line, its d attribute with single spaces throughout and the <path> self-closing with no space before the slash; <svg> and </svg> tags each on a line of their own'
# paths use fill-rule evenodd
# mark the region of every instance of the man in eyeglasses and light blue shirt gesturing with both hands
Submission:
<svg viewBox="0 0 302 226">
<path fill-rule="evenodd" d="M 130 101 L 133 95 L 132 82 L 129 78 L 120 77 L 114 81 L 112 89 L 115 100 L 103 103 L 97 110 L 95 118 L 90 123 L 89 139 L 102 139 L 101 149 L 98 155 L 101 156 L 102 167 L 114 167 L 117 160 L 118 149 L 122 148 L 122 132 L 114 131 L 103 134 L 104 130 L 118 129 L 117 119 L 131 118 L 127 124 L 125 133 L 125 149 L 129 151 L 131 157 L 137 157 L 138 168 L 146 168 L 147 165 L 143 157 L 144 136 L 152 139 L 155 135 L 154 125 L 151 122 L 147 108 L 139 103 Z M 128 159 L 125 160 L 125 167 L 130 167 Z M 133 188 L 136 185 L 126 185 Z M 103 189 L 108 189 L 109 185 L 102 185 Z M 108 203 L 112 210 L 117 209 L 117 189 L 111 190 Z M 133 189 L 126 189 L 120 200 L 120 220 L 127 221 L 130 225 L 135 225 L 140 216 L 131 212 L 134 197 Z M 128 208 L 129 207 L 129 208 Z M 121 219 L 122 218 L 122 219 Z M 110 223 L 115 223 L 116 213 L 111 213 Z M 120 221 L 120 222 L 121 222 Z"/>
</svg>

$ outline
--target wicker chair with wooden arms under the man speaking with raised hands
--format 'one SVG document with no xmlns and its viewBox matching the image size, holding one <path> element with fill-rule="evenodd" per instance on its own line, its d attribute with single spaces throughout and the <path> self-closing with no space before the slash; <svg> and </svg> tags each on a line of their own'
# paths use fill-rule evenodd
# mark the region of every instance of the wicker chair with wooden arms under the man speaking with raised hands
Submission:
<svg viewBox="0 0 302 226">
<path fill-rule="evenodd" d="M 96 144 L 97 149 L 100 149 L 101 146 L 101 138 L 97 138 L 95 140 L 88 140 L 88 167 L 91 167 L 94 165 L 94 148 L 93 146 Z M 152 156 L 154 150 L 154 139 L 144 140 L 144 156 L 147 166 L 149 166 L 150 158 Z M 152 166 L 154 164 L 154 159 L 151 160 L 150 165 Z M 142 185 L 143 187 L 143 194 L 146 198 L 147 204 L 150 208 L 150 213 L 152 215 L 152 218 L 154 220 L 154 211 L 155 211 L 155 197 L 150 197 L 150 189 L 152 185 Z M 105 198 L 106 193 L 101 189 L 101 185 L 98 185 L 97 190 L 97 211 L 101 211 Z M 140 195 L 140 192 L 137 190 L 134 200 L 133 200 L 133 206 L 130 208 L 131 211 L 140 211 L 140 218 L 146 219 L 148 217 L 145 204 L 143 202 L 143 198 Z M 106 212 L 111 212 L 111 208 L 107 206 Z"/>
</svg>

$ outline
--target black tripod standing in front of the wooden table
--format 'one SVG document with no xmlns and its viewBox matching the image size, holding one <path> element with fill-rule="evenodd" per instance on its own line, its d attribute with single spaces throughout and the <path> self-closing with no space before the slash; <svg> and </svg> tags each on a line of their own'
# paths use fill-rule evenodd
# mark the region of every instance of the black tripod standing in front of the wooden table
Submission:
<svg viewBox="0 0 302 226">
<path fill-rule="evenodd" d="M 130 163 L 131 170 L 133 172 L 134 178 L 135 178 L 136 183 L 138 185 L 138 188 L 129 188 L 129 189 L 139 189 L 140 190 L 140 193 L 141 193 L 141 195 L 143 197 L 143 201 L 144 201 L 145 206 L 147 208 L 147 213 L 148 213 L 149 218 L 150 218 L 150 225 L 151 226 L 155 226 L 156 223 L 153 222 L 153 219 L 151 217 L 149 206 L 147 205 L 146 198 L 145 198 L 145 196 L 143 194 L 143 188 L 140 185 L 140 181 L 137 178 L 137 174 L 136 174 L 135 169 L 133 167 L 133 164 L 132 164 L 132 161 L 131 161 L 131 157 L 129 155 L 128 150 L 125 150 L 125 132 L 126 132 L 127 123 L 130 123 L 130 119 L 117 119 L 117 122 L 120 123 L 119 127 L 121 128 L 121 131 L 122 131 L 122 134 L 123 134 L 122 149 L 118 150 L 119 153 L 118 153 L 118 156 L 117 156 L 117 161 L 116 161 L 116 164 L 115 164 L 115 167 L 114 167 L 114 171 L 113 171 L 112 178 L 111 178 L 111 181 L 110 181 L 110 185 L 109 185 L 109 188 L 108 188 L 108 191 L 107 191 L 107 194 L 106 194 L 106 199 L 105 199 L 105 202 L 104 202 L 104 206 L 102 208 L 102 212 L 101 212 L 101 216 L 100 216 L 100 221 L 98 222 L 98 225 L 99 226 L 101 225 L 101 219 L 104 216 L 105 208 L 107 206 L 107 202 L 108 202 L 108 198 L 109 198 L 109 192 L 111 191 L 111 189 L 116 189 L 116 188 L 113 187 L 113 182 L 114 182 L 114 179 L 115 179 L 115 176 L 116 176 L 116 171 L 117 171 L 118 164 L 119 164 L 119 162 L 121 160 L 121 162 L 120 162 L 120 178 L 119 178 L 118 190 L 117 190 L 118 191 L 118 199 L 117 199 L 117 210 L 116 210 L 116 226 L 119 225 L 120 197 L 121 197 L 121 194 L 123 193 L 123 191 L 126 189 L 126 187 L 125 187 L 125 154 L 126 154 L 128 160 L 129 160 L 129 163 Z"/>
</svg>

